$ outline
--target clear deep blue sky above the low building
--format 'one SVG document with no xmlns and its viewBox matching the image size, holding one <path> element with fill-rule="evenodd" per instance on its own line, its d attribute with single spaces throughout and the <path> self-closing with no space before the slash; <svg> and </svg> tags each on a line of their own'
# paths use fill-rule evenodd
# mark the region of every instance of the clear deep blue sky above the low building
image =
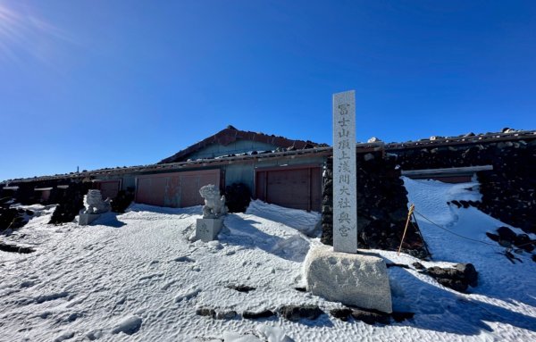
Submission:
<svg viewBox="0 0 536 342">
<path fill-rule="evenodd" d="M 533 1 L 0 0 L 0 179 L 156 163 L 231 124 L 331 144 L 536 129 Z"/>
</svg>

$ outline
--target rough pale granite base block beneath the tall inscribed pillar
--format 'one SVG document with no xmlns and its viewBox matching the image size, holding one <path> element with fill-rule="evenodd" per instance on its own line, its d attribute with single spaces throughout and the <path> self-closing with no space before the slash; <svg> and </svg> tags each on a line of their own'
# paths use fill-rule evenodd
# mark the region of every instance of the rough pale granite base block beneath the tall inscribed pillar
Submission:
<svg viewBox="0 0 536 342">
<path fill-rule="evenodd" d="M 311 247 L 304 262 L 307 290 L 333 302 L 392 313 L 387 267 L 380 257 Z"/>
</svg>

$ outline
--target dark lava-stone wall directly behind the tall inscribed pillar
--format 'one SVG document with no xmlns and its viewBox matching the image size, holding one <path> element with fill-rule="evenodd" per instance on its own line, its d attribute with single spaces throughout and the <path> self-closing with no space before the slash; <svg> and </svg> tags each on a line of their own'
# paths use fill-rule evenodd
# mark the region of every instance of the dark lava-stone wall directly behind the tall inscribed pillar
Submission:
<svg viewBox="0 0 536 342">
<path fill-rule="evenodd" d="M 383 153 L 357 155 L 357 243 L 359 248 L 397 250 L 407 218 L 406 188 L 393 156 Z M 333 244 L 333 174 L 328 158 L 322 186 L 322 243 Z M 403 251 L 424 258 L 423 239 L 410 225 Z"/>
</svg>

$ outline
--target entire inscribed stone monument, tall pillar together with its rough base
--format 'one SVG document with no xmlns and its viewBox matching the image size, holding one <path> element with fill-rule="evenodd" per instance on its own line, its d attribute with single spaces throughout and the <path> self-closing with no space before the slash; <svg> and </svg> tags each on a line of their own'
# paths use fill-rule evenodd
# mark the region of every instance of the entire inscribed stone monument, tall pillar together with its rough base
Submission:
<svg viewBox="0 0 536 342">
<path fill-rule="evenodd" d="M 331 301 L 392 312 L 387 267 L 357 253 L 356 95 L 333 95 L 333 248 L 312 246 L 304 261 L 307 290 Z"/>
</svg>

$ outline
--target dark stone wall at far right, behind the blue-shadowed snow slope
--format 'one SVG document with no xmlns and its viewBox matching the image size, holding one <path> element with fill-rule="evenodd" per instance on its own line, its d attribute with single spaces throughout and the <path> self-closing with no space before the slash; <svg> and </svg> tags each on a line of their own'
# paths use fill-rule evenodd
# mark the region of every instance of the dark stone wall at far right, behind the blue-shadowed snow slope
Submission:
<svg viewBox="0 0 536 342">
<path fill-rule="evenodd" d="M 482 144 L 387 150 L 403 170 L 493 165 L 477 172 L 480 210 L 496 219 L 536 233 L 536 136 Z"/>
</svg>

